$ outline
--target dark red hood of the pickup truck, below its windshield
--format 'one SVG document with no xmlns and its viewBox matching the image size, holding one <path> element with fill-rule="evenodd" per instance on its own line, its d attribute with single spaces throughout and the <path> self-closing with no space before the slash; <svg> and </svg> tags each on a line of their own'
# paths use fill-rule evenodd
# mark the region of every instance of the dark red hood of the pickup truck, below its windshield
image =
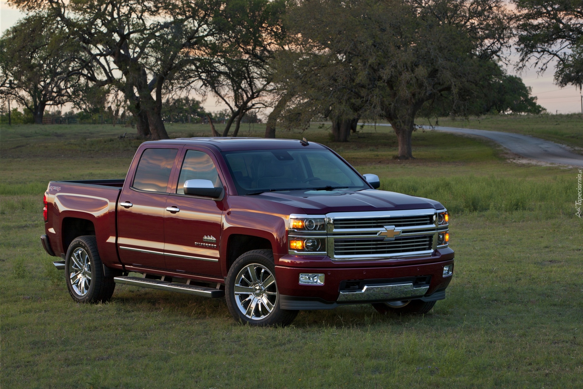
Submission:
<svg viewBox="0 0 583 389">
<path fill-rule="evenodd" d="M 258 198 L 303 208 L 306 215 L 330 212 L 401 211 L 404 209 L 443 209 L 440 202 L 396 192 L 367 189 L 361 191 L 282 191 L 264 192 Z"/>
</svg>

